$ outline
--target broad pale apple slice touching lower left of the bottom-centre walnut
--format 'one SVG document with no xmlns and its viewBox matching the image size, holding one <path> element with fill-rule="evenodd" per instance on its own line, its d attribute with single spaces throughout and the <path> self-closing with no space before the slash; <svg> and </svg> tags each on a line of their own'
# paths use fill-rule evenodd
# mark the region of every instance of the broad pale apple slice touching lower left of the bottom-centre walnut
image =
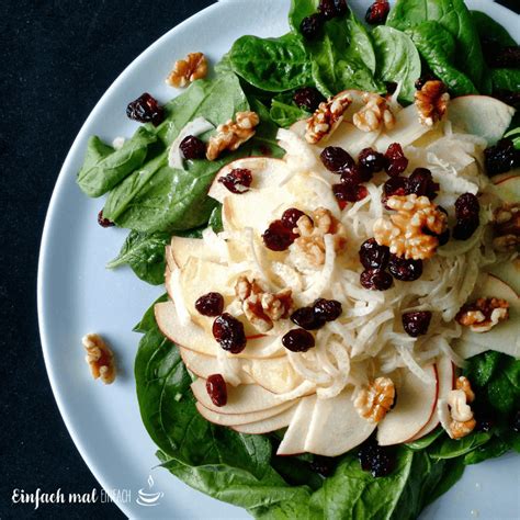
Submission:
<svg viewBox="0 0 520 520">
<path fill-rule="evenodd" d="M 318 398 L 305 439 L 305 451 L 324 456 L 341 455 L 365 441 L 375 427 L 358 414 L 352 389 L 330 399 Z"/>
</svg>

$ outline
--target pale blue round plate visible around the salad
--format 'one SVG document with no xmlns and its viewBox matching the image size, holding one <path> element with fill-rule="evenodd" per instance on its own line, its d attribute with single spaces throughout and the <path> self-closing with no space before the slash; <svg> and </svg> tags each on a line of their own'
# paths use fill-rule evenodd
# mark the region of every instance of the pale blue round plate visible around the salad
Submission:
<svg viewBox="0 0 520 520">
<path fill-rule="evenodd" d="M 351 2 L 354 9 L 368 2 Z M 472 1 L 512 33 L 516 15 L 487 1 Z M 54 395 L 82 457 L 106 490 L 121 495 L 121 509 L 132 518 L 247 518 L 236 507 L 193 491 L 167 471 L 155 467 L 156 446 L 140 421 L 133 375 L 139 336 L 132 327 L 162 292 L 137 280 L 128 269 L 104 269 L 126 231 L 97 224 L 102 201 L 77 188 L 87 139 L 97 134 L 111 142 L 129 136 L 136 124 L 125 106 L 145 91 L 166 102 L 174 93 L 165 77 L 176 57 L 202 50 L 215 63 L 242 34 L 276 36 L 287 29 L 287 0 L 229 0 L 216 3 L 171 30 L 143 53 L 112 84 L 84 123 L 64 163 L 47 214 L 38 269 L 42 344 Z M 112 386 L 93 382 L 80 338 L 104 335 L 114 348 L 120 375 Z M 148 477 L 155 484 L 149 488 Z M 518 517 L 519 459 L 505 456 L 468 467 L 463 481 L 423 518 Z M 160 491 L 155 507 L 137 502 L 138 491 Z"/>
</svg>

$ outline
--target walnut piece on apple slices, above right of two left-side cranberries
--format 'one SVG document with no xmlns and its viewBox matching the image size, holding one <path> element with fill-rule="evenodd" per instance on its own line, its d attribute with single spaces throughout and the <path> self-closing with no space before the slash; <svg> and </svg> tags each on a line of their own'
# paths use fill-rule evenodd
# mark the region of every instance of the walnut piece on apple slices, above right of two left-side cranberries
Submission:
<svg viewBox="0 0 520 520">
<path fill-rule="evenodd" d="M 293 309 L 290 289 L 273 294 L 258 280 L 250 282 L 246 276 L 238 278 L 235 294 L 241 302 L 246 318 L 261 332 L 272 329 L 273 321 L 287 318 Z"/>
</svg>

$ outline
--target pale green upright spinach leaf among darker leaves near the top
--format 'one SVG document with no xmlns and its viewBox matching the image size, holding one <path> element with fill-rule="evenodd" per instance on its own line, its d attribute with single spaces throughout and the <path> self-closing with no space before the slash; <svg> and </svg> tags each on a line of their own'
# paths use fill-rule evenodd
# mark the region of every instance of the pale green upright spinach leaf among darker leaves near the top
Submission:
<svg viewBox="0 0 520 520">
<path fill-rule="evenodd" d="M 414 101 L 415 82 L 420 76 L 419 53 L 410 37 L 397 29 L 378 25 L 372 31 L 376 77 L 382 81 L 403 82 L 399 99 Z"/>
</svg>

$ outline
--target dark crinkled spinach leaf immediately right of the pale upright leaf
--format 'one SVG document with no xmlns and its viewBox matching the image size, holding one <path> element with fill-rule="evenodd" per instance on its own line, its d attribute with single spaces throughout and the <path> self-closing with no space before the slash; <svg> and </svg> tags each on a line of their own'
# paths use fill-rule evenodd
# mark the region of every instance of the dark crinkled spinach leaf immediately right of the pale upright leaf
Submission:
<svg viewBox="0 0 520 520">
<path fill-rule="evenodd" d="M 448 86 L 453 95 L 477 93 L 470 78 L 454 65 L 455 41 L 442 25 L 438 22 L 422 22 L 406 32 L 428 67 Z"/>
</svg>

